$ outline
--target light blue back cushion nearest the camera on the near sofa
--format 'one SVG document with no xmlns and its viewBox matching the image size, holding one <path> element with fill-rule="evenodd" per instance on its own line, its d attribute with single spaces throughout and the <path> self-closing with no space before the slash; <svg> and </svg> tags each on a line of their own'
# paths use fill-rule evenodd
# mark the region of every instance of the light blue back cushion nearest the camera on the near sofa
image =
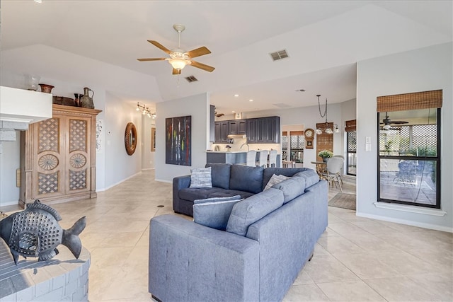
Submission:
<svg viewBox="0 0 453 302">
<path fill-rule="evenodd" d="M 246 236 L 248 226 L 282 207 L 283 193 L 270 188 L 234 204 L 226 224 L 226 231 Z"/>
</svg>

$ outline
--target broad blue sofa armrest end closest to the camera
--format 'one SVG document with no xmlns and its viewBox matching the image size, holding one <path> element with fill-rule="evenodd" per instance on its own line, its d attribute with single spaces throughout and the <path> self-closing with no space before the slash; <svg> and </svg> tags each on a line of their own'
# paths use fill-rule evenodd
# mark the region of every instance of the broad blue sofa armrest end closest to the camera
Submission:
<svg viewBox="0 0 453 302">
<path fill-rule="evenodd" d="M 258 301 L 259 244 L 175 215 L 149 228 L 149 292 L 161 301 Z"/>
</svg>

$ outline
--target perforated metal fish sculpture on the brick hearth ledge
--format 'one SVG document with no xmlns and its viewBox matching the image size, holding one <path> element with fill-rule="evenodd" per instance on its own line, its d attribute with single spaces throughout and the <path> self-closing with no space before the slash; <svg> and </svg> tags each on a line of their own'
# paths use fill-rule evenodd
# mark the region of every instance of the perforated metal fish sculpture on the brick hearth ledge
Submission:
<svg viewBox="0 0 453 302">
<path fill-rule="evenodd" d="M 86 226 L 86 216 L 68 230 L 59 225 L 60 220 L 62 217 L 55 209 L 38 199 L 27 204 L 25 210 L 1 219 L 0 236 L 9 246 L 14 263 L 17 265 L 19 255 L 25 259 L 39 257 L 38 261 L 52 259 L 58 254 L 57 246 L 60 244 L 66 245 L 79 259 L 82 249 L 79 234 Z"/>
</svg>

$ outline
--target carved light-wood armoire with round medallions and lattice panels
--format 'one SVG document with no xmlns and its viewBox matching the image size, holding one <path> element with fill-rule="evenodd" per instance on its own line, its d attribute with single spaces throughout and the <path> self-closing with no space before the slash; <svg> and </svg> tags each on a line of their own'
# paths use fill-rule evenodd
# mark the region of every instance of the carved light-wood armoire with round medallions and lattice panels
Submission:
<svg viewBox="0 0 453 302">
<path fill-rule="evenodd" d="M 52 118 L 21 132 L 19 204 L 96 197 L 96 115 L 101 110 L 53 105 Z"/>
</svg>

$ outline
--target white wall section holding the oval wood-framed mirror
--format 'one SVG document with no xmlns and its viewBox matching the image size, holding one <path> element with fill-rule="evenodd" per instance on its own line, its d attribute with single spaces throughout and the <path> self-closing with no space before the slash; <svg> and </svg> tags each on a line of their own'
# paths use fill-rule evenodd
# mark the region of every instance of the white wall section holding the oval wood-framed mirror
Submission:
<svg viewBox="0 0 453 302">
<path fill-rule="evenodd" d="M 105 189 L 113 187 L 142 170 L 142 115 L 136 106 L 105 93 Z M 126 153 L 125 129 L 128 122 L 137 128 L 137 149 Z"/>
</svg>

